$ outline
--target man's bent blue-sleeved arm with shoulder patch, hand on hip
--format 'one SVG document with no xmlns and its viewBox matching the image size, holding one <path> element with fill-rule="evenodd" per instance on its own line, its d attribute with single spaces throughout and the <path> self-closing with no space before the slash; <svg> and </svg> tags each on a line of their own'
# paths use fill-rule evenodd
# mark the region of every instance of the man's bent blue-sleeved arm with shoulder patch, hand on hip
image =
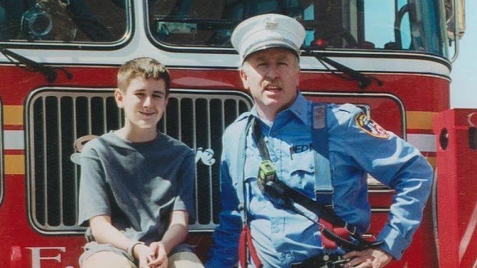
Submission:
<svg viewBox="0 0 477 268">
<path fill-rule="evenodd" d="M 431 190 L 433 169 L 419 150 L 367 121 L 369 118 L 363 118 L 359 108 L 350 116 L 347 153 L 358 166 L 395 190 L 388 222 L 377 239 L 384 241 L 380 249 L 400 259 L 421 222 Z M 376 131 L 375 135 L 370 131 Z"/>
</svg>

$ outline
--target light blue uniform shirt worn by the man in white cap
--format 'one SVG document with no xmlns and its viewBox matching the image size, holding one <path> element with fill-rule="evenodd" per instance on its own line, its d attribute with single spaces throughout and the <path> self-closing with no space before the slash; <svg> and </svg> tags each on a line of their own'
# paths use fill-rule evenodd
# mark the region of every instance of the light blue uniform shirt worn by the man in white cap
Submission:
<svg viewBox="0 0 477 268">
<path fill-rule="evenodd" d="M 315 198 L 311 105 L 299 93 L 271 127 L 262 123 L 261 130 L 278 178 Z M 242 229 L 237 194 L 237 186 L 242 182 L 235 178 L 238 168 L 244 168 L 248 224 L 265 267 L 289 267 L 324 252 L 316 224 L 293 211 L 275 207 L 260 192 L 257 175 L 261 158 L 251 131 L 246 138 L 245 166 L 238 166 L 237 158 L 244 148 L 239 148 L 237 141 L 248 116 L 258 117 L 252 109 L 227 127 L 223 135 L 222 211 L 206 267 L 232 267 L 238 263 Z M 388 222 L 377 239 L 384 241 L 383 250 L 400 259 L 421 221 L 431 188 L 432 167 L 416 148 L 374 124 L 352 104 L 328 105 L 326 121 L 335 212 L 364 233 L 370 220 L 367 173 L 394 189 Z M 316 215 L 309 216 L 317 219 Z M 341 249 L 335 251 L 343 253 Z"/>
</svg>

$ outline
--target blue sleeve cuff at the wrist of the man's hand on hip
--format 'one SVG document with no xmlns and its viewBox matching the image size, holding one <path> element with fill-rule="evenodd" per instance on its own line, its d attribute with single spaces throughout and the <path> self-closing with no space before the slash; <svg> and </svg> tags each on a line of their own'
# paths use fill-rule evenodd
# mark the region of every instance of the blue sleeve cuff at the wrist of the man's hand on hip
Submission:
<svg viewBox="0 0 477 268">
<path fill-rule="evenodd" d="M 410 242 L 407 241 L 399 231 L 391 228 L 389 225 L 386 225 L 377 238 L 377 241 L 383 241 L 379 247 L 391 254 L 391 256 L 400 260 L 404 250 L 409 246 Z"/>
</svg>

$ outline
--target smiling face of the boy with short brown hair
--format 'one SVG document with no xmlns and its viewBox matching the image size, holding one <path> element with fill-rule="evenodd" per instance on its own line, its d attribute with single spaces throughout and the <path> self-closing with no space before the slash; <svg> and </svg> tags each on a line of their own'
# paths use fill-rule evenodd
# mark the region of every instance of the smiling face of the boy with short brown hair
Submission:
<svg viewBox="0 0 477 268">
<path fill-rule="evenodd" d="M 137 128 L 154 128 L 162 118 L 168 98 L 163 79 L 136 77 L 123 91 L 116 89 L 114 97 L 119 108 L 124 109 L 126 125 Z"/>
</svg>

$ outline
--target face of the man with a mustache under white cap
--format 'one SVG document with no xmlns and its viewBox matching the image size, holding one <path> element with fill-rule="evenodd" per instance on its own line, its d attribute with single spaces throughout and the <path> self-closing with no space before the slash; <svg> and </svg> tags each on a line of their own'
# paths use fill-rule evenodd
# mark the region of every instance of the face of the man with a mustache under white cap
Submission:
<svg viewBox="0 0 477 268">
<path fill-rule="evenodd" d="M 250 55 L 240 69 L 240 77 L 261 109 L 278 112 L 297 96 L 300 67 L 293 52 L 271 48 Z"/>
</svg>

